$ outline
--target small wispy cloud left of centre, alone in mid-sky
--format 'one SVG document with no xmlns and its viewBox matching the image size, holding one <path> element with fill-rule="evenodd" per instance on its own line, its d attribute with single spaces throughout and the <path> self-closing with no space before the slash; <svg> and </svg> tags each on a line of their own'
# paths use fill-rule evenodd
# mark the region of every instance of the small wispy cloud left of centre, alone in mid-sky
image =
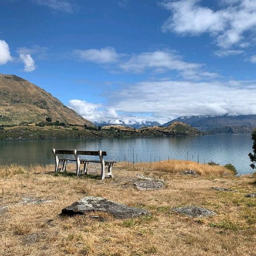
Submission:
<svg viewBox="0 0 256 256">
<path fill-rule="evenodd" d="M 99 64 L 116 62 L 118 59 L 118 54 L 113 47 L 100 48 L 99 50 L 74 50 L 73 52 L 81 60 L 86 60 L 89 62 L 95 62 Z"/>
</svg>

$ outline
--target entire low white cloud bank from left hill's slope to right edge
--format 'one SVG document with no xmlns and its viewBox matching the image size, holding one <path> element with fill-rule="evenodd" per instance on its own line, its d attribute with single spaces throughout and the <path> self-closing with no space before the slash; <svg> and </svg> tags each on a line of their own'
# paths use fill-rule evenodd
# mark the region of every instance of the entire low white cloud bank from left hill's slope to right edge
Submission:
<svg viewBox="0 0 256 256">
<path fill-rule="evenodd" d="M 256 113 L 256 81 L 140 82 L 106 97 L 106 106 L 70 100 L 70 107 L 93 122 L 112 124 L 120 124 L 120 120 L 163 124 L 178 116 Z"/>
</svg>

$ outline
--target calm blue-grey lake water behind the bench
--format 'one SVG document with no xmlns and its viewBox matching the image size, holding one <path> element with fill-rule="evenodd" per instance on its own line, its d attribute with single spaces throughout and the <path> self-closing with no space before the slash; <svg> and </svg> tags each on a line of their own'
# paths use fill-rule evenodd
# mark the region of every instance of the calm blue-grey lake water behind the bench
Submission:
<svg viewBox="0 0 256 256">
<path fill-rule="evenodd" d="M 106 159 L 152 161 L 187 159 L 199 162 L 213 160 L 232 163 L 239 174 L 251 173 L 248 153 L 252 152 L 251 135 L 214 134 L 170 138 L 92 138 L 80 140 L 15 140 L 0 141 L 0 164 L 49 164 L 54 162 L 52 148 L 78 150 L 106 150 Z M 129 154 L 128 154 L 129 152 Z"/>
</svg>

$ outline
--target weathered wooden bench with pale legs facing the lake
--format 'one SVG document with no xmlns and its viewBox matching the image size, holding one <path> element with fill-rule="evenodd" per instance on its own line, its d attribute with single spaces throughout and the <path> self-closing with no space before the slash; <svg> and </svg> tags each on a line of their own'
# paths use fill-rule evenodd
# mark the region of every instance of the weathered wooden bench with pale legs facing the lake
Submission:
<svg viewBox="0 0 256 256">
<path fill-rule="evenodd" d="M 54 154 L 55 159 L 55 172 L 59 171 L 65 171 L 66 172 L 66 166 L 68 161 L 74 161 L 76 162 L 76 176 L 79 176 L 80 174 L 88 174 L 88 163 L 100 163 L 101 165 L 101 180 L 104 180 L 105 176 L 108 177 L 114 177 L 112 172 L 112 166 L 116 161 L 105 161 L 104 156 L 107 155 L 106 151 L 85 151 L 85 150 L 62 150 L 62 149 L 52 149 L 52 153 Z M 60 156 L 58 156 L 60 155 Z M 66 156 L 61 156 L 66 155 Z M 90 160 L 90 159 L 84 159 L 80 158 L 80 156 L 98 156 L 100 160 Z M 59 164 L 62 163 L 62 166 L 59 168 Z M 84 168 L 81 171 L 80 170 L 80 164 L 84 164 Z M 105 175 L 105 166 L 108 167 L 108 172 Z"/>
</svg>

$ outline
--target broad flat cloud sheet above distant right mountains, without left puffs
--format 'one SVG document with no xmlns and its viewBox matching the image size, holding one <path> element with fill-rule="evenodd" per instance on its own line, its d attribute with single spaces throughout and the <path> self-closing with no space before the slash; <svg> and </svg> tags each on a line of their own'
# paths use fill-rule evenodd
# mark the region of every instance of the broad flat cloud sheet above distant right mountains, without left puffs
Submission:
<svg viewBox="0 0 256 256">
<path fill-rule="evenodd" d="M 256 82 L 141 82 L 112 93 L 116 111 L 152 113 L 164 119 L 187 115 L 255 114 Z"/>
</svg>

